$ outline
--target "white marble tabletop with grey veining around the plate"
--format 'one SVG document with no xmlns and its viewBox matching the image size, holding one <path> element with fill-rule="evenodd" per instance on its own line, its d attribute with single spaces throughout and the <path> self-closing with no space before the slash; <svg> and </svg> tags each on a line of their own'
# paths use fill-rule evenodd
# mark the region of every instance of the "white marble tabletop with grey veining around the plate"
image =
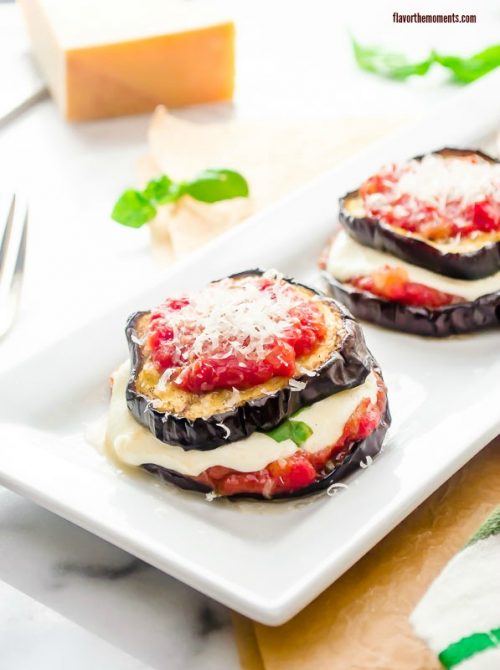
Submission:
<svg viewBox="0 0 500 670">
<path fill-rule="evenodd" d="M 234 106 L 209 115 L 320 116 L 425 112 L 454 87 L 440 76 L 408 85 L 357 71 L 347 25 L 365 40 L 422 54 L 470 52 L 496 40 L 488 0 L 422 0 L 420 11 L 475 11 L 478 25 L 393 26 L 394 3 L 229 3 L 239 20 Z M 341 6 L 342 4 L 342 6 Z M 398 11 L 414 11 L 401 0 Z M 0 82 L 25 46 L 0 6 Z M 8 25 L 8 28 L 6 26 Z M 13 38 L 12 35 L 16 37 Z M 19 85 L 22 82 L 19 79 Z M 16 96 L 16 77 L 9 78 Z M 5 102 L 5 100 L 4 100 Z M 109 220 L 113 198 L 134 180 L 148 118 L 68 126 L 45 100 L 0 126 L 0 183 L 29 195 L 31 221 L 22 310 L 0 344 L 8 367 L 106 309 L 136 277 L 151 280 L 146 231 Z M 1 196 L 1 194 L 0 194 Z M 134 268 L 134 273 L 130 268 Z M 0 389 L 5 393 L 6 389 Z M 91 492 L 89 492 L 91 494 Z M 14 493 L 0 489 L 0 668 L 132 670 L 238 667 L 229 613 L 206 597 Z"/>
</svg>

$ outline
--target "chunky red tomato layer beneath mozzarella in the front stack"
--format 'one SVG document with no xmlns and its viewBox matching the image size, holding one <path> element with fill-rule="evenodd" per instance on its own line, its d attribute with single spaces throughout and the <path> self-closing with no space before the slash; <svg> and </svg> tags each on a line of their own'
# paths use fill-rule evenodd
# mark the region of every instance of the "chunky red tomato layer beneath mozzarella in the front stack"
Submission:
<svg viewBox="0 0 500 670">
<path fill-rule="evenodd" d="M 315 453 L 298 450 L 288 458 L 273 461 L 258 472 L 236 472 L 215 466 L 196 477 L 196 481 L 224 496 L 256 493 L 269 498 L 309 486 L 319 476 L 326 474 L 325 468 L 328 462 L 342 462 L 352 444 L 366 438 L 379 425 L 387 399 L 382 380 L 378 378 L 377 382 L 376 402 L 371 404 L 370 400 L 365 398 L 359 403 L 345 424 L 342 436 L 335 444 Z"/>
</svg>

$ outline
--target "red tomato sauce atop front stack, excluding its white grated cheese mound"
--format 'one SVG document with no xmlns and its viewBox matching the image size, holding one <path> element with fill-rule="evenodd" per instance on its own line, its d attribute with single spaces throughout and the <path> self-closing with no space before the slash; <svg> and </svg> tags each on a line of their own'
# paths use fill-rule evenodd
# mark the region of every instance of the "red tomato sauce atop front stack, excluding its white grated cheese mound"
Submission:
<svg viewBox="0 0 500 670">
<path fill-rule="evenodd" d="M 252 349 L 248 347 L 250 337 L 233 329 L 226 339 L 216 338 L 216 344 L 205 339 L 200 351 L 197 338 L 203 333 L 204 324 L 194 323 L 188 316 L 183 320 L 183 314 L 190 313 L 191 298 L 169 299 L 152 313 L 149 326 L 148 347 L 158 372 L 170 371 L 169 381 L 192 393 L 240 390 L 273 377 L 295 374 L 297 358 L 310 354 L 325 339 L 322 312 L 307 295 L 284 281 L 264 277 L 246 281 L 267 292 L 271 306 L 279 292 L 289 298 L 286 314 L 276 322 L 278 334 L 267 337 L 260 347 Z M 220 290 L 227 288 L 221 284 Z M 174 316 L 175 327 L 172 326 Z"/>
</svg>

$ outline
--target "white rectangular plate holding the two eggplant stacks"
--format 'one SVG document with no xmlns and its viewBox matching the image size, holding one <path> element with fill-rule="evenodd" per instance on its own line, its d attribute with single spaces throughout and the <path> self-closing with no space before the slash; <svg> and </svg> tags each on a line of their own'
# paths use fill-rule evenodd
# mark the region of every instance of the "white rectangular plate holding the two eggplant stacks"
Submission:
<svg viewBox="0 0 500 670">
<path fill-rule="evenodd" d="M 374 464 L 333 497 L 208 503 L 117 471 L 84 438 L 85 425 L 105 412 L 109 373 L 126 356 L 125 318 L 171 290 L 251 267 L 317 283 L 337 197 L 385 161 L 474 145 L 500 121 L 499 98 L 500 72 L 5 373 L 0 481 L 258 621 L 293 616 L 499 432 L 498 331 L 437 341 L 366 326 L 394 417 Z"/>
</svg>

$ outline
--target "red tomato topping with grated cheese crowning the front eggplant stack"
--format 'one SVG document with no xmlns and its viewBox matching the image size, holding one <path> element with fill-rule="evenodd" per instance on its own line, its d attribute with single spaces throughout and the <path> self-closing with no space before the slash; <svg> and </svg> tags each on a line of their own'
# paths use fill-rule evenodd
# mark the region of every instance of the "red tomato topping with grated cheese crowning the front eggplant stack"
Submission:
<svg viewBox="0 0 500 670">
<path fill-rule="evenodd" d="M 160 373 L 200 393 L 292 377 L 296 359 L 325 336 L 309 295 L 282 279 L 252 276 L 165 301 L 151 315 L 148 346 Z"/>
</svg>

